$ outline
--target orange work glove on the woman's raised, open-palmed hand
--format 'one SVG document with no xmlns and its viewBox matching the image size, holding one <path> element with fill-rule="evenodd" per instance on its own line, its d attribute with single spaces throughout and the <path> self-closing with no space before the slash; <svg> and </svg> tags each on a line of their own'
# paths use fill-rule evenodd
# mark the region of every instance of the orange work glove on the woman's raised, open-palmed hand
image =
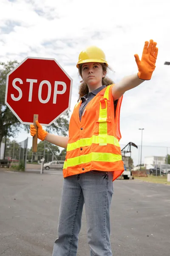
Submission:
<svg viewBox="0 0 170 256">
<path fill-rule="evenodd" d="M 151 79 L 152 73 L 156 67 L 155 63 L 158 55 L 158 48 L 156 47 L 156 44 L 157 43 L 153 42 L 153 40 L 150 40 L 150 42 L 145 41 L 141 61 L 137 54 L 134 55 L 136 64 L 138 65 L 138 77 L 140 79 Z"/>
</svg>

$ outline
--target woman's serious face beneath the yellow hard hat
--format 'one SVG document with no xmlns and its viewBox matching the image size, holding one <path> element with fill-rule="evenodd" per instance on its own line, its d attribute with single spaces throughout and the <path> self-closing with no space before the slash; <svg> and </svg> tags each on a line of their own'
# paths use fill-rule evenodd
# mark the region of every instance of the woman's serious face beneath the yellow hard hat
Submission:
<svg viewBox="0 0 170 256">
<path fill-rule="evenodd" d="M 102 65 L 96 62 L 82 64 L 82 79 L 87 85 L 98 85 L 102 83 L 102 78 L 106 72 L 103 71 Z"/>
</svg>

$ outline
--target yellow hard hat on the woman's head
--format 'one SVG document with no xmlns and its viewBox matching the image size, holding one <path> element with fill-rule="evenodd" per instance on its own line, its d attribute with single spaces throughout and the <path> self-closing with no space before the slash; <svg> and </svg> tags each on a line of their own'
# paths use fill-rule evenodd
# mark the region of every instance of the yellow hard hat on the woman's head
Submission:
<svg viewBox="0 0 170 256">
<path fill-rule="evenodd" d="M 79 68 L 79 64 L 83 64 L 87 62 L 105 63 L 108 66 L 105 53 L 102 51 L 102 49 L 96 46 L 90 46 L 86 48 L 84 51 L 80 52 L 79 61 L 77 62 L 76 67 Z"/>
</svg>

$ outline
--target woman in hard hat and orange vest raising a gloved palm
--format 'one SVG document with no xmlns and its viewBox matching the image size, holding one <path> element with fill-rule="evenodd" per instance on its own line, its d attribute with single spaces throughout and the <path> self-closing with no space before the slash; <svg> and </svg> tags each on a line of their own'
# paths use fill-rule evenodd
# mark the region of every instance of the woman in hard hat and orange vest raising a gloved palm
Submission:
<svg viewBox="0 0 170 256">
<path fill-rule="evenodd" d="M 141 61 L 135 55 L 139 72 L 113 84 L 106 78 L 108 63 L 104 52 L 88 47 L 80 53 L 77 63 L 83 82 L 79 88 L 81 100 L 70 119 L 69 137 L 48 134 L 36 121 L 40 140 L 67 148 L 53 256 L 77 255 L 84 204 L 90 255 L 112 256 L 109 211 L 113 180 L 124 171 L 119 146 L 122 96 L 151 79 L 157 54 L 156 42 L 146 41 Z M 30 131 L 32 136 L 36 134 L 34 125 Z"/>
</svg>

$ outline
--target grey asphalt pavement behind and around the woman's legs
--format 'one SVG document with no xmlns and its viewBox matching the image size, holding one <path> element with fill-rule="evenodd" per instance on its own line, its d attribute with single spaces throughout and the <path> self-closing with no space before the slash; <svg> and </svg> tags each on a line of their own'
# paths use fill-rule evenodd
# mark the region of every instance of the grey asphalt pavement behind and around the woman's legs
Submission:
<svg viewBox="0 0 170 256">
<path fill-rule="evenodd" d="M 0 171 L 0 255 L 51 256 L 62 172 Z M 116 180 L 111 207 L 115 256 L 170 255 L 170 186 Z M 89 256 L 85 212 L 77 256 Z"/>
</svg>

